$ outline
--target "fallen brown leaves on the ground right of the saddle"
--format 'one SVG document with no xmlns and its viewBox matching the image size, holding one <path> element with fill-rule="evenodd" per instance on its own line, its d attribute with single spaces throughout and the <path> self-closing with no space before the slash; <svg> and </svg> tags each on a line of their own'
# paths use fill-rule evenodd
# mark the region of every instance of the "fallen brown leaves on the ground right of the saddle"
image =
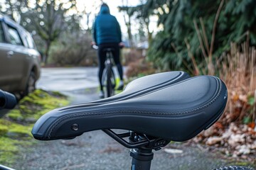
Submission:
<svg viewBox="0 0 256 170">
<path fill-rule="evenodd" d="M 256 91 L 249 94 L 237 89 L 230 91 L 222 118 L 208 130 L 201 132 L 193 142 L 219 147 L 228 156 L 255 161 L 255 98 Z"/>
</svg>

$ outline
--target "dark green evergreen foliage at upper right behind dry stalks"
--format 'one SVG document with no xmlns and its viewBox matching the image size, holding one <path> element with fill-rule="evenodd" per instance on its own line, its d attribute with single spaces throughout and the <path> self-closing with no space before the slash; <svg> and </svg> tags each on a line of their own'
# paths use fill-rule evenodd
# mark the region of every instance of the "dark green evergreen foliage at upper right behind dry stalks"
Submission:
<svg viewBox="0 0 256 170">
<path fill-rule="evenodd" d="M 219 6 L 220 0 L 146 1 L 144 15 L 158 16 L 159 26 L 164 27 L 149 46 L 149 60 L 159 69 L 184 69 L 193 73 L 191 56 L 188 55 L 191 52 L 199 69 L 205 69 L 201 62 L 210 55 L 213 23 Z M 216 56 L 230 49 L 230 42 L 250 40 L 251 45 L 256 45 L 255 8 L 256 1 L 253 0 L 224 1 L 215 28 L 213 63 Z M 199 43 L 200 37 L 203 47 Z M 206 50 L 206 56 L 203 50 Z"/>
</svg>

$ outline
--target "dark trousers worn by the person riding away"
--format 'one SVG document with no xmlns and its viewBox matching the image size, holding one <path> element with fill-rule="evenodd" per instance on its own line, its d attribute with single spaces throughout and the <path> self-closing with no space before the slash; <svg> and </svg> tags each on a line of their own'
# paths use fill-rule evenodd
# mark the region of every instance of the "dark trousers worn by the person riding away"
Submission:
<svg viewBox="0 0 256 170">
<path fill-rule="evenodd" d="M 99 59 L 99 80 L 100 80 L 100 90 L 103 90 L 102 87 L 102 74 L 103 70 L 105 69 L 105 60 L 107 57 L 107 52 L 104 50 L 105 48 L 114 48 L 114 51 L 112 52 L 114 64 L 117 66 L 117 70 L 119 73 L 119 77 L 122 80 L 123 79 L 123 71 L 122 71 L 122 64 L 120 63 L 120 49 L 118 43 L 109 43 L 109 44 L 102 44 L 98 45 L 98 59 Z"/>
</svg>

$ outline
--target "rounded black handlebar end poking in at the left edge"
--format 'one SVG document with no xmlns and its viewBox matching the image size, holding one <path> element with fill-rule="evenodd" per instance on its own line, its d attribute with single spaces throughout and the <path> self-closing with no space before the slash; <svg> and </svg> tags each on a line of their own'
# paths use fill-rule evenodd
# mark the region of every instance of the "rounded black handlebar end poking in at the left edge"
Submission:
<svg viewBox="0 0 256 170">
<path fill-rule="evenodd" d="M 0 90 L 0 109 L 2 108 L 11 109 L 11 108 L 14 108 L 16 104 L 17 104 L 17 100 L 13 94 Z"/>
</svg>

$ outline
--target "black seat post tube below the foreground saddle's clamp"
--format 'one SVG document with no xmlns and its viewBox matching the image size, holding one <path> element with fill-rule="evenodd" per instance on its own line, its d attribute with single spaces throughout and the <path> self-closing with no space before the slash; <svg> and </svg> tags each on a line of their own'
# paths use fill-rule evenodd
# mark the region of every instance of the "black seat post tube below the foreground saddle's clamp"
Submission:
<svg viewBox="0 0 256 170">
<path fill-rule="evenodd" d="M 130 149 L 132 157 L 131 170 L 149 170 L 154 157 L 152 149 Z"/>
</svg>

